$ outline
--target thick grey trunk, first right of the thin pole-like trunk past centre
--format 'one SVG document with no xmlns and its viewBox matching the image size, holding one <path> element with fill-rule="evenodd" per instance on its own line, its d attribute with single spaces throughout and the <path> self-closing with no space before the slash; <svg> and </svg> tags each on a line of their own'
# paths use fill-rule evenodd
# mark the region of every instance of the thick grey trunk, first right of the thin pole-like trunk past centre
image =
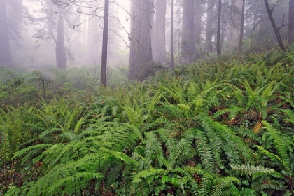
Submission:
<svg viewBox="0 0 294 196">
<path fill-rule="evenodd" d="M 183 27 L 181 57 L 183 62 L 192 62 L 195 52 L 194 1 L 183 0 Z"/>
</svg>

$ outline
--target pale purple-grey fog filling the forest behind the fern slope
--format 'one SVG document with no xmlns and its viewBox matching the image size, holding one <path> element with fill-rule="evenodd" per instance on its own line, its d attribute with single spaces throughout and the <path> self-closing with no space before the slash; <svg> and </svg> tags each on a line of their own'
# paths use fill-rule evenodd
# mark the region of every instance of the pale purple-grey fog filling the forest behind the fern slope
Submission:
<svg viewBox="0 0 294 196">
<path fill-rule="evenodd" d="M 263 1 L 173 2 L 110 1 L 107 66 L 135 72 L 134 66 L 148 62 L 181 66 L 237 54 L 238 48 L 239 53 L 269 50 L 279 37 L 291 40 L 288 0 L 269 1 L 279 37 Z M 0 9 L 1 65 L 29 70 L 101 66 L 104 1 L 6 0 Z"/>
</svg>

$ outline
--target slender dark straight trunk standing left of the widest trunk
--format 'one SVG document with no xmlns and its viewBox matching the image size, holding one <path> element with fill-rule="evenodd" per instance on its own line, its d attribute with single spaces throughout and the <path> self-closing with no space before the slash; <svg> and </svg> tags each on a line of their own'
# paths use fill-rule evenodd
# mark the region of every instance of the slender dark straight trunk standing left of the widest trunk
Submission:
<svg viewBox="0 0 294 196">
<path fill-rule="evenodd" d="M 101 85 L 106 87 L 107 70 L 107 44 L 109 41 L 109 0 L 104 3 L 104 24 L 103 24 L 103 43 L 102 43 L 102 62 L 101 62 Z"/>
</svg>

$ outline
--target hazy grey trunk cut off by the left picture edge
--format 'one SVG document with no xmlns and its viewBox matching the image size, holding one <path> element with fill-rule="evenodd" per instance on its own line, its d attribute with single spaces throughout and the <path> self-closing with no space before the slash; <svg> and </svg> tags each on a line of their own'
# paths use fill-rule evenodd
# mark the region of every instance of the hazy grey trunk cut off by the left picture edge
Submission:
<svg viewBox="0 0 294 196">
<path fill-rule="evenodd" d="M 0 66 L 11 62 L 6 0 L 0 0 Z"/>
</svg>

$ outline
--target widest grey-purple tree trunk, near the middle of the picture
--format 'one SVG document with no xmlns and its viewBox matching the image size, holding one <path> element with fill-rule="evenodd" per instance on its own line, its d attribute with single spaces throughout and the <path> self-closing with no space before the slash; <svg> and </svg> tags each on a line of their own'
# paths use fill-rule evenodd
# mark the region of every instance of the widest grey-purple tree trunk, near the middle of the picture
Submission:
<svg viewBox="0 0 294 196">
<path fill-rule="evenodd" d="M 131 3 L 130 80 L 139 80 L 144 64 L 152 61 L 150 0 Z"/>
</svg>

